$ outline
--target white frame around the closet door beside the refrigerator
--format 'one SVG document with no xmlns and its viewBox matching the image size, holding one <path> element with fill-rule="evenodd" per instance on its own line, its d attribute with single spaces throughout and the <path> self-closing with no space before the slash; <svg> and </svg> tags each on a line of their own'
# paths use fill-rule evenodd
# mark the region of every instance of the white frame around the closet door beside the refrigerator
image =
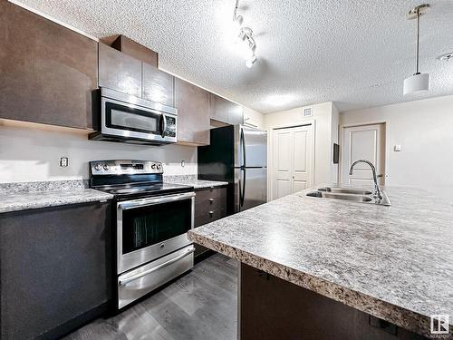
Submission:
<svg viewBox="0 0 453 340">
<path fill-rule="evenodd" d="M 287 123 L 283 125 L 275 125 L 272 128 L 268 129 L 267 131 L 267 141 L 268 141 L 268 148 L 267 148 L 267 160 L 271 160 L 267 162 L 267 189 L 268 189 L 268 196 L 267 200 L 274 200 L 274 180 L 275 180 L 275 160 L 274 160 L 274 130 L 282 130 L 282 129 L 290 129 L 290 128 L 298 128 L 302 126 L 312 126 L 312 167 L 311 167 L 311 175 L 310 175 L 310 180 L 312 182 L 312 185 L 314 184 L 314 160 L 315 160 L 315 141 L 316 141 L 316 120 L 306 120 L 306 121 L 301 121 L 301 122 L 295 122 L 295 123 Z"/>
</svg>

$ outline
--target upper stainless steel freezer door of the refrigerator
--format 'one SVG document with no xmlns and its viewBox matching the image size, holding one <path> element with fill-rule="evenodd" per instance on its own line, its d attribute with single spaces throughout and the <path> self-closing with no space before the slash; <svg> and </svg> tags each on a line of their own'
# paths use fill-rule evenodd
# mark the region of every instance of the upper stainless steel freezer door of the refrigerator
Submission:
<svg viewBox="0 0 453 340">
<path fill-rule="evenodd" d="M 267 132 L 235 125 L 235 167 L 267 167 Z"/>
</svg>

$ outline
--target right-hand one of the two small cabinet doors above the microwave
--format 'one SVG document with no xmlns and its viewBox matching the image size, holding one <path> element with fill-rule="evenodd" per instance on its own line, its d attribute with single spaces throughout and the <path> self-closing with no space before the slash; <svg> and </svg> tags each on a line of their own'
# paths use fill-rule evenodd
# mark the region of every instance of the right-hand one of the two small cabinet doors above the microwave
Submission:
<svg viewBox="0 0 453 340">
<path fill-rule="evenodd" d="M 143 99 L 174 106 L 175 77 L 160 71 L 157 67 L 142 63 L 143 67 Z"/>
</svg>

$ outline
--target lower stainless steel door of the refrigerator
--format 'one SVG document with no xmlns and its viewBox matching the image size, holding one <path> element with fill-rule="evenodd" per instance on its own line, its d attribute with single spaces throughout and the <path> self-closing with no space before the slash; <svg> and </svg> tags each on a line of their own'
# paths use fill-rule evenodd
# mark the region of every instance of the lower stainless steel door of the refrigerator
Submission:
<svg viewBox="0 0 453 340">
<path fill-rule="evenodd" d="M 235 212 L 267 201 L 267 169 L 235 169 Z"/>
</svg>

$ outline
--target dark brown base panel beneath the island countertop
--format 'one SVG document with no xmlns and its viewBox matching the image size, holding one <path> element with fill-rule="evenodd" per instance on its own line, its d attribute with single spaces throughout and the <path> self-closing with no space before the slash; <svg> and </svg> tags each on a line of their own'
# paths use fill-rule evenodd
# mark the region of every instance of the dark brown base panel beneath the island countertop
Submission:
<svg viewBox="0 0 453 340">
<path fill-rule="evenodd" d="M 241 340 L 421 340 L 311 290 L 241 264 Z"/>
</svg>

